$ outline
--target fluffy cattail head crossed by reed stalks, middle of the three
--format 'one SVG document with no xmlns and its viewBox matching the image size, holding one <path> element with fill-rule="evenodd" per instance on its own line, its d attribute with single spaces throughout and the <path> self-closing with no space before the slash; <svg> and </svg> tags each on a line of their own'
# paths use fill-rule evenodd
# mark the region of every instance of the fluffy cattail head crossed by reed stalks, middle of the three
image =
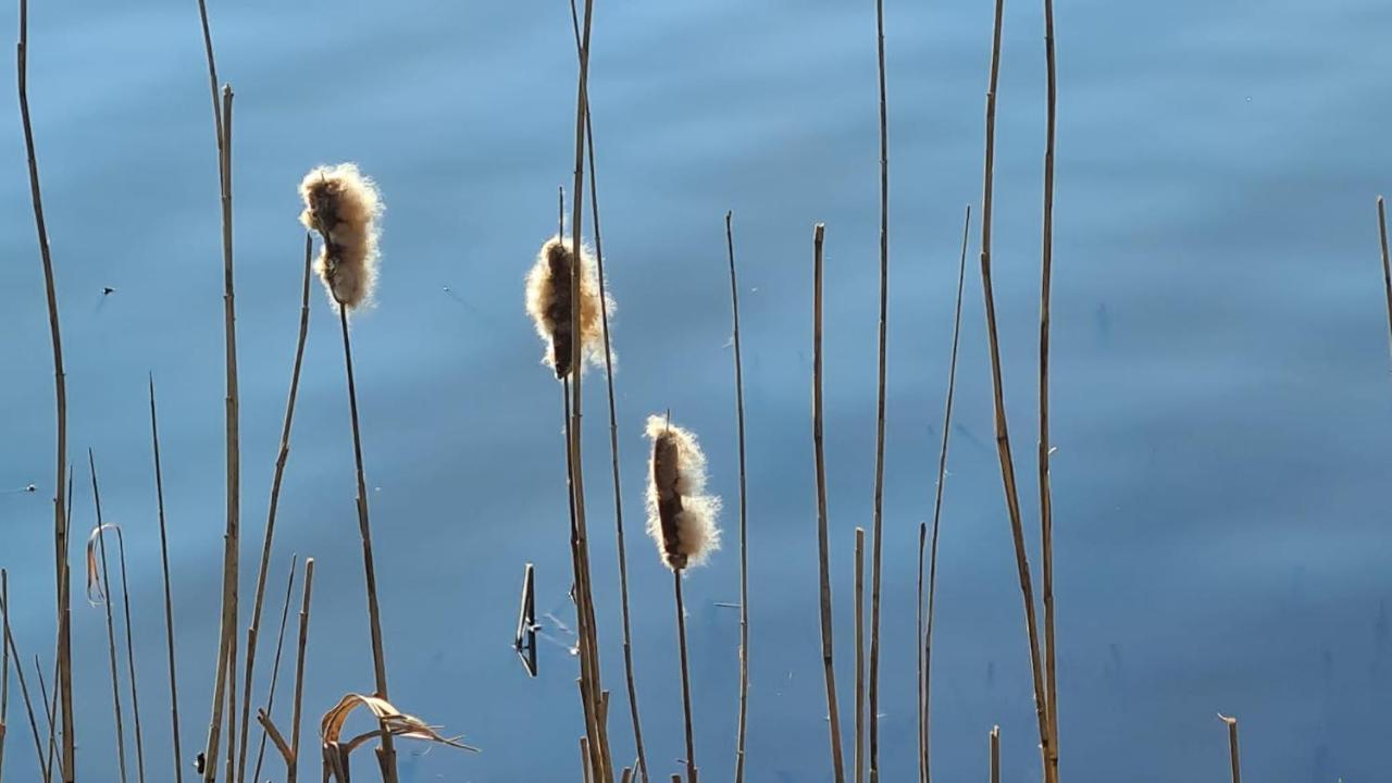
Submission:
<svg viewBox="0 0 1392 783">
<path fill-rule="evenodd" d="M 547 351 L 543 364 L 555 369 L 555 378 L 571 373 L 571 351 L 574 350 L 571 309 L 571 274 L 575 269 L 575 254 L 571 242 L 560 235 L 541 245 L 532 272 L 526 276 L 526 312 L 536 323 L 536 333 L 546 340 Z M 599 274 L 589 248 L 580 247 L 580 358 L 593 365 L 604 361 L 603 318 L 614 312 L 614 301 L 600 298 Z M 611 352 L 612 355 L 612 352 Z"/>
</svg>

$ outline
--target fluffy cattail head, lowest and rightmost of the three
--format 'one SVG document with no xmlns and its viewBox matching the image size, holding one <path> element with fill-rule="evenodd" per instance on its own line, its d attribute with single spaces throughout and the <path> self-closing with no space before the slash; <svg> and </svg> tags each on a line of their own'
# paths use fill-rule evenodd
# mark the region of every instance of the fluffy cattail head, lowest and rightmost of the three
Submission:
<svg viewBox="0 0 1392 783">
<path fill-rule="evenodd" d="M 653 457 L 647 471 L 647 535 L 674 571 L 700 566 L 720 549 L 720 497 L 704 495 L 706 454 L 696 436 L 667 417 L 647 417 Z"/>
</svg>

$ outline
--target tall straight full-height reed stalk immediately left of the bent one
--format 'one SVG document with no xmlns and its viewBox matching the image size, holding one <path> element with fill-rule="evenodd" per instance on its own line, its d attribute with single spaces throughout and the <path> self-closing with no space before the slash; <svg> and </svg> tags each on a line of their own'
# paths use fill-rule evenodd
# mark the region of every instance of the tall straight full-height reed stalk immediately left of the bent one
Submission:
<svg viewBox="0 0 1392 783">
<path fill-rule="evenodd" d="M 884 72 L 884 0 L 876 0 L 880 61 L 880 383 L 876 401 L 874 542 L 870 585 L 870 783 L 880 780 L 880 550 L 884 531 L 885 343 L 889 327 L 889 117 Z"/>
</svg>

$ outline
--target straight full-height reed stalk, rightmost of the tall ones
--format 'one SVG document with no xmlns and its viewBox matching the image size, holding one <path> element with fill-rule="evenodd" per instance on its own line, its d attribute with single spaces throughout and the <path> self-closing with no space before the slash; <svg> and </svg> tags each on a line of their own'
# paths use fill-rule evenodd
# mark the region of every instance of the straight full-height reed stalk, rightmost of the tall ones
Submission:
<svg viewBox="0 0 1392 783">
<path fill-rule="evenodd" d="M 1054 644 L 1054 489 L 1050 485 L 1048 435 L 1048 348 L 1050 300 L 1054 279 L 1054 127 L 1057 118 L 1054 68 L 1054 0 L 1044 0 L 1044 63 L 1047 81 L 1047 131 L 1044 141 L 1044 231 L 1040 283 L 1040 552 L 1043 559 L 1044 599 L 1044 674 L 1048 708 L 1050 745 L 1044 759 L 1050 776 L 1058 780 L 1058 658 Z"/>
</svg>

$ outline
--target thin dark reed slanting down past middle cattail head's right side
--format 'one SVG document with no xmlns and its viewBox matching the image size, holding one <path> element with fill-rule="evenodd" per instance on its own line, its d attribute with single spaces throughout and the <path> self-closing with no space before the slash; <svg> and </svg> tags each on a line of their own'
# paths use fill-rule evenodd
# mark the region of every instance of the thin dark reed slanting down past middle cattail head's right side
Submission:
<svg viewBox="0 0 1392 783">
<path fill-rule="evenodd" d="M 571 26 L 575 32 L 575 54 L 579 57 L 583 52 L 583 43 L 580 42 L 580 18 L 575 0 L 571 0 Z M 587 93 L 585 100 L 585 145 L 589 152 L 587 159 L 590 167 L 590 224 L 594 227 L 594 261 L 599 270 L 600 302 L 603 305 L 603 302 L 608 301 L 608 291 L 606 290 L 608 281 L 604 276 L 604 241 L 600 234 L 599 180 L 594 176 L 594 123 L 590 113 Z M 561 230 L 555 235 L 557 238 L 564 235 L 564 217 Z M 633 745 L 638 752 L 638 775 L 643 783 L 647 783 L 647 752 L 643 750 L 643 726 L 638 716 L 638 687 L 633 677 L 633 644 L 628 602 L 628 552 L 624 542 L 624 493 L 619 488 L 618 470 L 618 415 L 614 405 L 614 351 L 612 343 L 610 341 L 607 307 L 600 307 L 600 327 L 604 334 L 604 380 L 608 392 L 610 458 L 614 474 L 614 536 L 618 549 L 619 607 L 624 621 L 624 679 L 628 685 L 628 712 L 633 722 Z"/>
</svg>

